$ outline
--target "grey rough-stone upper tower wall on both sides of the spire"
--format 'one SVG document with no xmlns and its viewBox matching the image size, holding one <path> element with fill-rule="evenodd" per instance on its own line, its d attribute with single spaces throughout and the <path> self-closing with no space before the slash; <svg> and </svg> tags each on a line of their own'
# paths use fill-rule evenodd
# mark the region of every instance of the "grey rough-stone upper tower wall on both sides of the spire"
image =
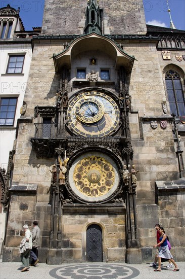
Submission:
<svg viewBox="0 0 185 279">
<path fill-rule="evenodd" d="M 87 1 L 45 0 L 42 33 L 83 34 Z M 142 0 L 100 0 L 104 34 L 146 33 Z"/>
</svg>

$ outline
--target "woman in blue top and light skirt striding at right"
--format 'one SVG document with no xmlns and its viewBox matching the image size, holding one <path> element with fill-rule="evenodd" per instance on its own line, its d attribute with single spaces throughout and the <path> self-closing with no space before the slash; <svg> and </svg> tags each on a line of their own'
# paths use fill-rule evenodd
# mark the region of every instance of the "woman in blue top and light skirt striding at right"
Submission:
<svg viewBox="0 0 185 279">
<path fill-rule="evenodd" d="M 160 227 L 158 229 L 158 231 L 160 233 L 160 238 L 159 238 L 160 242 L 157 243 L 156 245 L 154 245 L 154 247 L 156 248 L 157 246 L 160 246 L 160 249 L 159 249 L 159 255 L 158 255 L 158 268 L 154 269 L 154 271 L 161 271 L 161 258 L 170 260 L 175 266 L 173 271 L 179 271 L 178 266 L 176 265 L 175 261 L 173 260 L 172 255 L 169 251 L 168 243 L 167 243 L 167 236 L 165 234 L 163 227 Z"/>
</svg>

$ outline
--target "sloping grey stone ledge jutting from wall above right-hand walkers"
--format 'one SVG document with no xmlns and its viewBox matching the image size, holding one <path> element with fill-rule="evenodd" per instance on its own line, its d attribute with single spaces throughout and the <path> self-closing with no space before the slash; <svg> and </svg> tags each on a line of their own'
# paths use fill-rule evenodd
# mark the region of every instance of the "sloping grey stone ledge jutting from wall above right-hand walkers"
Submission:
<svg viewBox="0 0 185 279">
<path fill-rule="evenodd" d="M 183 190 L 185 189 L 185 178 L 174 181 L 156 181 L 156 186 L 161 190 Z"/>
</svg>

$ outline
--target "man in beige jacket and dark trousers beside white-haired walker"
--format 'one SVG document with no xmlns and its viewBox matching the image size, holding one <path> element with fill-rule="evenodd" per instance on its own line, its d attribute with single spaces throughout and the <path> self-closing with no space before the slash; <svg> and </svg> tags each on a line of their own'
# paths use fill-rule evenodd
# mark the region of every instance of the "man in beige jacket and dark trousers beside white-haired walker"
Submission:
<svg viewBox="0 0 185 279">
<path fill-rule="evenodd" d="M 33 229 L 31 231 L 32 235 L 32 249 L 30 251 L 30 256 L 32 257 L 31 265 L 35 266 L 38 262 L 38 247 L 40 246 L 40 229 L 38 227 L 38 222 L 33 221 Z"/>
</svg>

